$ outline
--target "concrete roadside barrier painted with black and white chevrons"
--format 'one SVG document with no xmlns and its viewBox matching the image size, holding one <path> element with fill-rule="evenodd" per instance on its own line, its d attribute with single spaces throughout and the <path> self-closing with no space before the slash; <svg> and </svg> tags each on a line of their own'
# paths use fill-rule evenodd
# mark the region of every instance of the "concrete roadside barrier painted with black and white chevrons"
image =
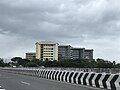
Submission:
<svg viewBox="0 0 120 90">
<path fill-rule="evenodd" d="M 5 68 L 3 70 L 91 87 L 120 90 L 120 74 L 29 68 Z"/>
</svg>

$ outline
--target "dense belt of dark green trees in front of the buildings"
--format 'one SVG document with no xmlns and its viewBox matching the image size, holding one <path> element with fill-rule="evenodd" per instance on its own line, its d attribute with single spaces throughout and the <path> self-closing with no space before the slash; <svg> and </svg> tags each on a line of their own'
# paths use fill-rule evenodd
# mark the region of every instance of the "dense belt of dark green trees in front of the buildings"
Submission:
<svg viewBox="0 0 120 90">
<path fill-rule="evenodd" d="M 23 67 L 74 67 L 74 68 L 120 68 L 120 64 L 116 64 L 115 61 L 110 62 L 104 59 L 77 59 L 77 60 L 60 60 L 60 61 L 42 61 L 38 59 L 27 60 L 20 57 L 14 57 L 11 59 L 13 65 Z"/>
</svg>

